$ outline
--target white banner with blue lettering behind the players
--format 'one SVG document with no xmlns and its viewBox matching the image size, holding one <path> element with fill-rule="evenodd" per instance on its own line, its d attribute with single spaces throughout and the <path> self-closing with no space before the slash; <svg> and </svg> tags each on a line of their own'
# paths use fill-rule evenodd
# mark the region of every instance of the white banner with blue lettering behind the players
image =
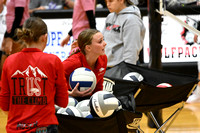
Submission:
<svg viewBox="0 0 200 133">
<path fill-rule="evenodd" d="M 72 19 L 43 19 L 48 27 L 48 41 L 44 50 L 45 53 L 57 55 L 62 61 L 69 56 L 73 37 L 64 47 L 60 46 L 61 41 L 68 35 L 72 28 Z M 105 18 L 96 18 L 97 29 L 102 30 Z"/>
</svg>

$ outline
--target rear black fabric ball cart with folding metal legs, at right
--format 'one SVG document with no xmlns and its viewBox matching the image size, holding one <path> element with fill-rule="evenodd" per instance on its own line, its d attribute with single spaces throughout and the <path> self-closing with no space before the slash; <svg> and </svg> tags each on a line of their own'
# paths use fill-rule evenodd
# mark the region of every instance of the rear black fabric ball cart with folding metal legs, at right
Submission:
<svg viewBox="0 0 200 133">
<path fill-rule="evenodd" d="M 138 72 L 144 77 L 139 89 L 134 93 L 136 111 L 150 115 L 157 126 L 155 133 L 166 132 L 183 109 L 184 103 L 197 85 L 198 79 L 184 74 L 144 68 L 125 62 L 109 69 L 105 76 L 122 80 L 122 78 L 130 72 Z M 160 83 L 170 83 L 172 87 L 156 87 Z M 183 103 L 182 106 L 178 107 L 162 125 L 159 125 L 152 111 L 167 108 L 180 102 Z"/>
</svg>

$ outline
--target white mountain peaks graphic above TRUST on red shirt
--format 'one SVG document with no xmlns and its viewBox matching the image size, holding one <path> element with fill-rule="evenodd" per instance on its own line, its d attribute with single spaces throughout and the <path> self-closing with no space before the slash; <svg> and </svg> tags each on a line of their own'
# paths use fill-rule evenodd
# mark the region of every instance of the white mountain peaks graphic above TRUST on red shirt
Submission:
<svg viewBox="0 0 200 133">
<path fill-rule="evenodd" d="M 34 77 L 40 75 L 41 77 L 47 78 L 47 76 L 38 67 L 33 68 L 31 65 L 29 65 L 27 69 L 23 72 L 17 70 L 11 77 L 16 75 L 22 75 L 22 76 L 26 75 L 29 77 L 30 74 L 33 74 Z"/>
</svg>

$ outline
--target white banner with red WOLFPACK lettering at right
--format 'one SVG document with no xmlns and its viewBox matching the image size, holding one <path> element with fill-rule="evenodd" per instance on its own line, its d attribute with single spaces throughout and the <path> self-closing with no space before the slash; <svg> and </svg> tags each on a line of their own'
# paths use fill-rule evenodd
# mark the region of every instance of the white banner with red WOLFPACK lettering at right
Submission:
<svg viewBox="0 0 200 133">
<path fill-rule="evenodd" d="M 177 16 L 183 22 L 197 28 L 195 21 L 200 20 L 200 15 Z M 184 29 L 175 20 L 164 16 L 162 22 L 162 62 L 196 62 L 200 61 L 200 43 L 194 43 L 194 34 Z M 195 21 L 194 21 L 195 20 Z M 148 17 L 143 18 L 146 26 L 146 35 L 144 40 L 144 62 L 149 62 L 149 27 Z M 200 41 L 200 39 L 199 39 Z"/>
</svg>

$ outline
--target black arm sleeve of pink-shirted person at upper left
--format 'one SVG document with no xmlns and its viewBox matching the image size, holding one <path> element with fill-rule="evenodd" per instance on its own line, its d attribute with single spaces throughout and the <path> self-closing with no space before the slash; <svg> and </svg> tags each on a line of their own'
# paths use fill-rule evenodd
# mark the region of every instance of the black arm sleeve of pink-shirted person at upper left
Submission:
<svg viewBox="0 0 200 133">
<path fill-rule="evenodd" d="M 11 29 L 10 33 L 8 33 L 6 31 L 5 38 L 6 37 L 13 38 L 13 36 L 15 34 L 15 29 L 20 27 L 20 23 L 21 23 L 22 18 L 23 18 L 23 13 L 24 13 L 24 7 L 16 7 L 15 8 L 15 19 L 14 19 L 14 22 L 12 24 L 12 29 Z"/>
</svg>

